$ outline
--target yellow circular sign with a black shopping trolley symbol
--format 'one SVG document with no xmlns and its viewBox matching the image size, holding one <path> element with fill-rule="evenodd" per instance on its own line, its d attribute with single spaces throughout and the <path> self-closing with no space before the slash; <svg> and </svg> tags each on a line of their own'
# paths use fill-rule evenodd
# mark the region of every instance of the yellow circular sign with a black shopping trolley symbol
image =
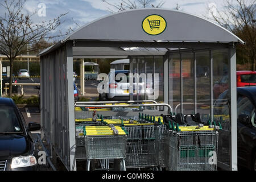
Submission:
<svg viewBox="0 0 256 182">
<path fill-rule="evenodd" d="M 161 34 L 166 25 L 166 20 L 160 15 L 149 15 L 142 21 L 142 29 L 149 35 Z"/>
</svg>

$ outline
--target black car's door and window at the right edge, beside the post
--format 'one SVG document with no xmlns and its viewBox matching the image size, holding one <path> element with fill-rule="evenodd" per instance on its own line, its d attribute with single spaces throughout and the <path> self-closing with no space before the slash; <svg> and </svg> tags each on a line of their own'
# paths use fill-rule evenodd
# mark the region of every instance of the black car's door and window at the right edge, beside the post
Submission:
<svg viewBox="0 0 256 182">
<path fill-rule="evenodd" d="M 240 119 L 237 122 L 238 164 L 250 168 L 251 158 L 253 158 L 251 152 L 255 146 L 255 107 L 248 97 L 238 94 L 237 118 L 241 114 L 246 114 L 249 117 L 249 123 L 246 124 Z"/>
</svg>

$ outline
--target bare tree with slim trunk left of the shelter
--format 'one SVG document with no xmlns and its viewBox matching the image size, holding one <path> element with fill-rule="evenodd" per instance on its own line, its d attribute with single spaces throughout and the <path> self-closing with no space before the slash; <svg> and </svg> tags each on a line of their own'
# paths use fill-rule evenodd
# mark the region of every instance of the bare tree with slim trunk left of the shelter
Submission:
<svg viewBox="0 0 256 182">
<path fill-rule="evenodd" d="M 32 16 L 36 15 L 36 11 L 32 14 L 23 14 L 23 7 L 26 0 L 5 0 L 0 2 L 0 7 L 5 10 L 5 15 L 0 16 L 0 54 L 7 56 L 10 60 L 10 93 L 13 85 L 13 61 L 16 56 L 26 54 L 27 51 L 36 51 L 35 46 L 27 46 L 36 44 L 42 39 L 52 39 L 59 36 L 67 35 L 68 32 L 51 36 L 49 33 L 60 26 L 61 17 L 65 14 L 57 16 L 53 20 L 43 21 L 40 23 L 32 22 Z"/>
</svg>

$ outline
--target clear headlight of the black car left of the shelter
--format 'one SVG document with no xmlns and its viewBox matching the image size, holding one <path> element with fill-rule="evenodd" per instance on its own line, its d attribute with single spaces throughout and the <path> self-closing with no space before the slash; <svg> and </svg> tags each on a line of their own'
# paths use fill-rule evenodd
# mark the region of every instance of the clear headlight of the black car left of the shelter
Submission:
<svg viewBox="0 0 256 182">
<path fill-rule="evenodd" d="M 36 164 L 35 156 L 20 156 L 11 160 L 11 168 L 28 167 Z"/>
</svg>

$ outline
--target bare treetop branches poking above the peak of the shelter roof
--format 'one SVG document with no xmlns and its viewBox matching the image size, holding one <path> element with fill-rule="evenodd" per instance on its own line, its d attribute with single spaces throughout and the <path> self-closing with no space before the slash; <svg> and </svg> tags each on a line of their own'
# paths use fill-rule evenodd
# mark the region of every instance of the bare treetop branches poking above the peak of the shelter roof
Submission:
<svg viewBox="0 0 256 182">
<path fill-rule="evenodd" d="M 160 1 L 158 4 L 153 5 L 152 0 L 120 0 L 118 4 L 110 3 L 108 0 L 101 0 L 102 2 L 107 3 L 112 6 L 114 10 L 109 8 L 109 11 L 114 13 L 115 11 L 124 11 L 129 9 L 141 9 L 146 7 L 162 7 L 164 2 Z"/>
</svg>

